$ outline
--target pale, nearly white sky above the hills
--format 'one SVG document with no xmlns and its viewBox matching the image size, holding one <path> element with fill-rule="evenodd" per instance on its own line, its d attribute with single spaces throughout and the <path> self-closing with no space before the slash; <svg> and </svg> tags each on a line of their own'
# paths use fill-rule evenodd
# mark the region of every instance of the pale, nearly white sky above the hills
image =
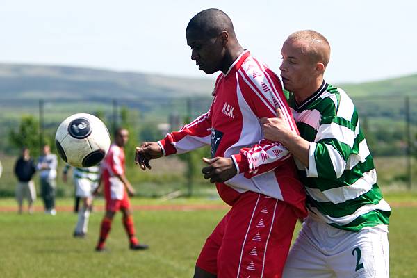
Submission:
<svg viewBox="0 0 417 278">
<path fill-rule="evenodd" d="M 0 63 L 204 77 L 185 30 L 206 8 L 227 13 L 240 44 L 278 74 L 282 43 L 301 29 L 329 40 L 329 83 L 417 74 L 412 0 L 0 0 Z"/>
</svg>

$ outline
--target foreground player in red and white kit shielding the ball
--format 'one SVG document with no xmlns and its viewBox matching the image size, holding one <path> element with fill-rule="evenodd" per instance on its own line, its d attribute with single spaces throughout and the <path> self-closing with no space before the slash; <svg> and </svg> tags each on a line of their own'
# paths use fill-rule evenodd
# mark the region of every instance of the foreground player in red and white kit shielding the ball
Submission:
<svg viewBox="0 0 417 278">
<path fill-rule="evenodd" d="M 206 74 L 221 71 L 211 108 L 180 131 L 136 148 L 136 162 L 181 154 L 211 144 L 202 172 L 231 206 L 197 259 L 194 277 L 281 277 L 297 218 L 306 215 L 305 194 L 288 150 L 262 140 L 259 119 L 284 111 L 297 127 L 277 76 L 244 50 L 231 19 L 203 10 L 186 29 L 191 59 Z"/>
</svg>

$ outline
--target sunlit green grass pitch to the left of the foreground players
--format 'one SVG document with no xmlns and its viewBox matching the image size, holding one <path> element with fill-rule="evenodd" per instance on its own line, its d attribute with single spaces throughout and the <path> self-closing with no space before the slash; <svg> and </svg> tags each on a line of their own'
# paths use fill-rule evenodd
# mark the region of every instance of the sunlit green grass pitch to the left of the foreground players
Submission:
<svg viewBox="0 0 417 278">
<path fill-rule="evenodd" d="M 149 203 L 155 202 L 140 202 Z M 1 213 L 1 277 L 191 277 L 206 236 L 223 214 L 221 210 L 136 211 L 138 237 L 151 247 L 146 252 L 128 250 L 118 215 L 108 238 L 109 252 L 97 254 L 93 250 L 102 212 L 92 214 L 90 234 L 83 240 L 72 238 L 73 213 L 58 212 L 55 217 Z"/>
</svg>

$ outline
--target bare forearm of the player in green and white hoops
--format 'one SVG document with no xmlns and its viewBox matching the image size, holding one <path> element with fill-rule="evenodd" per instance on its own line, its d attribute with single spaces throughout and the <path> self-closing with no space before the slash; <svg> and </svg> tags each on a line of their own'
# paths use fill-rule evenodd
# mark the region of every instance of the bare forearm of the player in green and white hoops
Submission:
<svg viewBox="0 0 417 278">
<path fill-rule="evenodd" d="M 304 140 L 296 133 L 288 131 L 288 133 L 285 133 L 285 136 L 283 136 L 281 144 L 284 145 L 304 166 L 309 167 L 309 141 Z"/>
</svg>

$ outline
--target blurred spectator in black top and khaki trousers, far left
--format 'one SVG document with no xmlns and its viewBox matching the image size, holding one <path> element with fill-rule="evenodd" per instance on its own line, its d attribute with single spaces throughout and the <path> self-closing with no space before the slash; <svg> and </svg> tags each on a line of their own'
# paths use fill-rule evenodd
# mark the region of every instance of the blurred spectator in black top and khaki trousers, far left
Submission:
<svg viewBox="0 0 417 278">
<path fill-rule="evenodd" d="M 22 149 L 22 156 L 17 159 L 15 165 L 15 175 L 17 177 L 16 199 L 19 204 L 19 213 L 22 213 L 23 199 L 28 200 L 28 211 L 33 213 L 33 202 L 36 199 L 35 183 L 32 180 L 36 172 L 35 163 L 31 158 L 27 147 Z"/>
</svg>

